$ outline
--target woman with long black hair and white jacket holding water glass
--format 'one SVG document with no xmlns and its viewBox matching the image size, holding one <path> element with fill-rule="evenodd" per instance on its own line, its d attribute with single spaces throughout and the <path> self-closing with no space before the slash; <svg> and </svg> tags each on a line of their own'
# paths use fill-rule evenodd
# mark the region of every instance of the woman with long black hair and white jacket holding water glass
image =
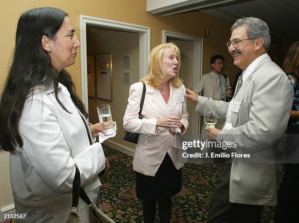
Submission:
<svg viewBox="0 0 299 223">
<path fill-rule="evenodd" d="M 88 125 L 84 104 L 64 69 L 75 63 L 80 43 L 67 13 L 35 8 L 18 22 L 13 62 L 0 101 L 0 145 L 10 152 L 10 178 L 17 213 L 28 222 L 66 222 L 72 204 L 75 164 L 81 186 L 97 198 L 98 174 L 108 168 L 102 131 Z M 79 214 L 89 222 L 88 208 Z"/>
</svg>

